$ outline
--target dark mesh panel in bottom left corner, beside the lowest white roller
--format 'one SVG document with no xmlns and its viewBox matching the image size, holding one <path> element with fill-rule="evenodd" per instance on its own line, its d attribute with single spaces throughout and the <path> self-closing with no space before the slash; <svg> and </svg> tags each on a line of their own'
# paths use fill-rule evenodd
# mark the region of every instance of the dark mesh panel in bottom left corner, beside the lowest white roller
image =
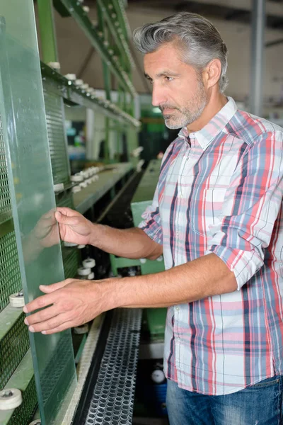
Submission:
<svg viewBox="0 0 283 425">
<path fill-rule="evenodd" d="M 35 377 L 30 380 L 28 387 L 23 392 L 23 403 L 15 410 L 8 421 L 8 425 L 27 425 L 37 408 L 37 395 L 35 389 Z"/>
</svg>

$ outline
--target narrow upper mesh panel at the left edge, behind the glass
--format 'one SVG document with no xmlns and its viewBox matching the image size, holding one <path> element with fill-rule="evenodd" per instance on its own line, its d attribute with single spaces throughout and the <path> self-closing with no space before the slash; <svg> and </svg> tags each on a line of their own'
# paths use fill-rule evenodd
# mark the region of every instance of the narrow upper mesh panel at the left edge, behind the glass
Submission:
<svg viewBox="0 0 283 425">
<path fill-rule="evenodd" d="M 11 217 L 11 199 L 8 188 L 8 174 L 0 115 L 0 224 Z"/>
</svg>

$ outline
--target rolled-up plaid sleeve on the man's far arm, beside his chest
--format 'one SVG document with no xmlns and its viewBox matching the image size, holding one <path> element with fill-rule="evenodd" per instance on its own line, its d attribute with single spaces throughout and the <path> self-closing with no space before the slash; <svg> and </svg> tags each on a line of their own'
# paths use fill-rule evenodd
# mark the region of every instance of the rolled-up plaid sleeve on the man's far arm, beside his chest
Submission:
<svg viewBox="0 0 283 425">
<path fill-rule="evenodd" d="M 139 223 L 139 228 L 144 230 L 144 232 L 158 244 L 163 244 L 162 237 L 162 227 L 161 227 L 161 218 L 159 214 L 158 206 L 158 185 L 156 186 L 156 191 L 154 193 L 154 199 L 146 210 L 143 212 L 141 217 L 144 219 Z"/>
</svg>

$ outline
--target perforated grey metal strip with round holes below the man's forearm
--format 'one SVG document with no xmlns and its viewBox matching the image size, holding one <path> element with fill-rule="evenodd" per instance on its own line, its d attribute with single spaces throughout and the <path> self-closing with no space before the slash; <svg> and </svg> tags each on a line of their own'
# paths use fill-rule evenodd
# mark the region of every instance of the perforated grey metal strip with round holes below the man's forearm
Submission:
<svg viewBox="0 0 283 425">
<path fill-rule="evenodd" d="M 132 424 L 141 310 L 115 310 L 86 425 Z"/>
</svg>

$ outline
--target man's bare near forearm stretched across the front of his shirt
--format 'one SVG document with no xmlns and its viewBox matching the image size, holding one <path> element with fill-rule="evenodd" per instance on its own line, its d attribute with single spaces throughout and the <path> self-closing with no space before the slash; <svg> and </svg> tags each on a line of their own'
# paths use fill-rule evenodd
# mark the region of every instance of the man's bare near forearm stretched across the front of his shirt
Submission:
<svg viewBox="0 0 283 425">
<path fill-rule="evenodd" d="M 168 307 L 237 289 L 233 272 L 215 254 L 161 273 L 122 278 L 119 282 L 105 280 L 105 285 L 106 293 L 112 294 L 109 300 L 113 304 L 106 310 L 113 307 Z"/>
</svg>

